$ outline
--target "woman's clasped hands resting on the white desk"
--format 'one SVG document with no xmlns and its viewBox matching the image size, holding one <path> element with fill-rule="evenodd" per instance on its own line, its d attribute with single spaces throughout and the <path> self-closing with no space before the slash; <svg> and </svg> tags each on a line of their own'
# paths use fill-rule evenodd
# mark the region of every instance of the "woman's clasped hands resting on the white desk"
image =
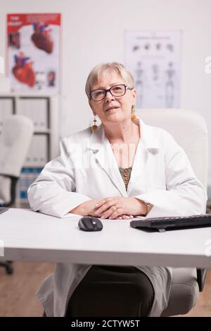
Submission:
<svg viewBox="0 0 211 331">
<path fill-rule="evenodd" d="M 114 196 L 102 199 L 96 204 L 94 216 L 101 218 L 120 218 L 121 216 L 135 216 L 146 214 L 146 204 L 136 198 Z"/>
</svg>

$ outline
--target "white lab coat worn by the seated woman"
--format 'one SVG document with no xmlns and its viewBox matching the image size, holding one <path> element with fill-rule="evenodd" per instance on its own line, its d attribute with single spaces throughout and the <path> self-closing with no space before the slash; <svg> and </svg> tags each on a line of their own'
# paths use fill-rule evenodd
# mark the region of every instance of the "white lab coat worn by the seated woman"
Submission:
<svg viewBox="0 0 211 331">
<path fill-rule="evenodd" d="M 60 156 L 49 162 L 28 191 L 30 206 L 58 218 L 71 217 L 72 208 L 89 199 L 134 196 L 153 204 L 148 217 L 205 213 L 207 195 L 193 173 L 184 150 L 172 136 L 140 120 L 141 139 L 125 190 L 115 156 L 103 127 L 90 128 L 63 139 Z M 68 300 L 91 266 L 57 263 L 54 274 L 37 297 L 47 316 L 64 316 Z M 155 300 L 150 316 L 166 308 L 172 268 L 137 266 L 151 280 Z"/>
</svg>

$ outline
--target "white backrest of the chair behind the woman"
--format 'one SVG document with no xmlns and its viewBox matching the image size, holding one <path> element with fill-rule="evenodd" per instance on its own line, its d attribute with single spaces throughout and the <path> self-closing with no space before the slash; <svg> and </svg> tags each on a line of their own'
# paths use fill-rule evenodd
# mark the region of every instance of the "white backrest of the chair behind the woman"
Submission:
<svg viewBox="0 0 211 331">
<path fill-rule="evenodd" d="M 196 177 L 207 188 L 208 137 L 204 118 L 185 109 L 137 109 L 144 123 L 162 127 L 186 152 Z"/>
</svg>

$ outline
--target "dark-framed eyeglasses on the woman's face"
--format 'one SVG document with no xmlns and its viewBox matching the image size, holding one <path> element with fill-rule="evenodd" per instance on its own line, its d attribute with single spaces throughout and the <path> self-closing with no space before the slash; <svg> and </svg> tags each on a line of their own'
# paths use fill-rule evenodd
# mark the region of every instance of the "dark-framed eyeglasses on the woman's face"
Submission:
<svg viewBox="0 0 211 331">
<path fill-rule="evenodd" d="M 93 101 L 101 101 L 106 97 L 107 92 L 110 92 L 113 96 L 123 96 L 126 93 L 126 89 L 133 89 L 134 87 L 128 87 L 125 84 L 115 85 L 110 89 L 94 89 L 89 94 Z"/>
</svg>

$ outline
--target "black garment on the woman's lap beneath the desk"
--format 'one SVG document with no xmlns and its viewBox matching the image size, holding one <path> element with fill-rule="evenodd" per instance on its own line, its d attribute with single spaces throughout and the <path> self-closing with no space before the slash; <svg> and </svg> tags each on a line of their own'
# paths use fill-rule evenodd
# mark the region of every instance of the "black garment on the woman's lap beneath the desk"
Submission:
<svg viewBox="0 0 211 331">
<path fill-rule="evenodd" d="M 65 316 L 148 316 L 153 301 L 153 285 L 139 269 L 92 266 L 73 292 Z"/>
</svg>

